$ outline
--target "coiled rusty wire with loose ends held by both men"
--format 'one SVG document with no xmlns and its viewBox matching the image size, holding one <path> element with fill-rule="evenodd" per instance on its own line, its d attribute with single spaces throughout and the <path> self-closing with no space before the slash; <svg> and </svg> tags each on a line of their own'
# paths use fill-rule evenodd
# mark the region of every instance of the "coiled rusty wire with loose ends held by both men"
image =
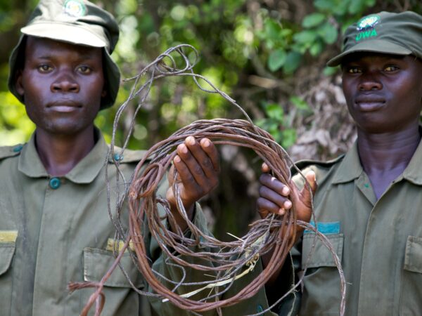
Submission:
<svg viewBox="0 0 422 316">
<path fill-rule="evenodd" d="M 194 60 L 186 55 L 186 50 L 193 53 Z M 178 67 L 176 54 L 183 60 L 184 65 Z M 174 196 L 177 200 L 177 209 L 181 216 L 186 220 L 188 231 L 182 232 L 180 228 L 176 232 L 170 230 L 169 224 L 178 228 L 174 220 L 174 216 L 170 211 L 170 205 L 166 199 L 157 196 L 157 189 L 162 178 L 165 177 L 167 170 L 170 168 L 172 159 L 176 155 L 177 145 L 184 142 L 186 137 L 193 136 L 196 139 L 209 138 L 217 145 L 235 145 L 240 147 L 248 147 L 253 150 L 264 162 L 271 168 L 271 172 L 282 183 L 290 187 L 291 173 L 290 169 L 294 168 L 300 173 L 295 164 L 291 161 L 286 150 L 283 149 L 274 138 L 266 131 L 258 128 L 252 123 L 248 114 L 242 109 L 235 100 L 230 98 L 226 93 L 220 91 L 205 77 L 195 74 L 193 67 L 198 61 L 198 52 L 193 46 L 181 44 L 169 48 L 165 53 L 158 56 L 151 64 L 146 66 L 136 77 L 127 79 L 133 81 L 133 86 L 129 98 L 120 106 L 115 116 L 113 126 L 113 138 L 110 145 L 110 157 L 115 157 L 115 134 L 119 121 L 127 109 L 129 103 L 134 99 L 138 99 L 138 106 L 132 117 L 129 133 L 124 139 L 122 151 L 123 154 L 127 147 L 129 138 L 134 128 L 136 114 L 141 106 L 146 103 L 148 93 L 151 91 L 153 81 L 162 77 L 170 76 L 189 76 L 192 77 L 200 90 L 207 93 L 218 93 L 222 98 L 236 106 L 242 112 L 245 119 L 211 119 L 198 120 L 192 124 L 185 126 L 167 138 L 151 147 L 145 156 L 136 166 L 134 174 L 130 179 L 125 179 L 124 174 L 120 171 L 119 160 L 114 160 L 117 169 L 116 183 L 113 185 L 117 200 L 115 205 L 111 205 L 110 191 L 112 185 L 108 178 L 108 159 L 106 160 L 106 183 L 108 190 L 108 213 L 116 228 L 116 240 L 124 239 L 122 249 L 115 249 L 116 260 L 101 282 L 82 282 L 72 283 L 69 285 L 70 290 L 81 289 L 86 287 L 94 287 L 96 291 L 91 295 L 81 315 L 87 315 L 94 303 L 96 304 L 96 315 L 101 314 L 105 297 L 103 296 L 103 286 L 110 277 L 111 273 L 117 265 L 120 267 L 130 284 L 139 294 L 147 296 L 155 296 L 162 298 L 163 302 L 171 301 L 174 305 L 185 310 L 191 310 L 194 315 L 200 315 L 199 312 L 207 310 L 217 310 L 221 312 L 221 308 L 234 305 L 240 301 L 254 296 L 271 275 L 280 268 L 284 262 L 290 248 L 293 246 L 297 227 L 301 226 L 315 233 L 314 243 L 311 252 L 307 258 L 309 262 L 310 256 L 314 251 L 317 240 L 319 239 L 333 255 L 335 265 L 340 274 L 340 315 L 345 312 L 345 278 L 340 265 L 340 260 L 335 254 L 335 250 L 331 242 L 318 232 L 317 228 L 309 223 L 296 220 L 295 209 L 286 212 L 284 216 L 276 216 L 271 214 L 267 218 L 257 220 L 250 224 L 250 229 L 243 237 L 236 237 L 231 242 L 222 242 L 215 237 L 207 235 L 200 230 L 188 218 L 186 210 L 181 202 L 179 187 L 177 180 L 173 181 Z M 204 88 L 200 84 L 200 80 L 205 81 L 209 88 Z M 201 82 L 202 82 L 201 81 Z M 305 179 L 305 177 L 300 173 Z M 177 171 L 174 172 L 174 179 L 177 177 Z M 306 179 L 305 179 L 306 182 Z M 305 183 L 307 190 L 310 190 L 309 183 Z M 127 210 L 124 202 L 129 199 L 129 223 L 121 222 L 122 211 Z M 312 211 L 312 216 L 314 213 Z M 316 220 L 315 220 L 316 223 Z M 180 279 L 167 279 L 151 268 L 151 259 L 146 255 L 148 249 L 143 239 L 146 225 L 151 235 L 157 240 L 162 252 L 165 254 L 165 263 L 172 265 L 172 268 L 178 269 L 181 273 Z M 128 227 L 128 229 L 124 229 Z M 132 242 L 134 251 L 129 251 L 138 270 L 142 273 L 144 279 L 153 288 L 155 293 L 148 293 L 136 289 L 129 276 L 120 265 L 120 258 L 124 251 Z M 271 260 L 262 272 L 255 279 L 247 284 L 241 291 L 231 297 L 224 297 L 224 293 L 229 291 L 230 287 L 236 282 L 236 279 L 243 277 L 255 267 L 257 260 L 264 254 L 272 252 Z M 306 270 L 307 264 L 305 264 Z M 203 280 L 200 282 L 187 282 L 187 275 L 191 271 L 203 271 Z M 212 277 L 210 277 L 210 275 Z M 304 273 L 305 275 L 305 273 Z M 302 277 L 303 278 L 303 277 Z M 276 305 L 288 294 L 294 291 L 301 283 L 302 278 L 295 284 L 295 287 L 283 297 L 274 303 Z M 178 294 L 177 289 L 184 288 L 184 295 Z M 186 290 L 187 289 L 187 290 Z M 199 293 L 200 298 L 193 299 L 186 296 L 186 291 L 203 289 Z M 193 296 L 198 297 L 198 296 Z M 274 306 L 273 305 L 273 306 Z M 262 315 L 267 310 L 259 312 L 255 315 Z"/>
</svg>

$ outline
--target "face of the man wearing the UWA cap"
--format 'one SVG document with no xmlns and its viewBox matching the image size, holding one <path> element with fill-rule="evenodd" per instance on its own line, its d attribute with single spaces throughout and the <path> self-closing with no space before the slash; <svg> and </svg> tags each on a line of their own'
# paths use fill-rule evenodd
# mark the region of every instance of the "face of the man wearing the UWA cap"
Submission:
<svg viewBox="0 0 422 316">
<path fill-rule="evenodd" d="M 389 133 L 418 124 L 422 62 L 412 55 L 354 53 L 342 63 L 343 92 L 359 129 Z"/>
</svg>

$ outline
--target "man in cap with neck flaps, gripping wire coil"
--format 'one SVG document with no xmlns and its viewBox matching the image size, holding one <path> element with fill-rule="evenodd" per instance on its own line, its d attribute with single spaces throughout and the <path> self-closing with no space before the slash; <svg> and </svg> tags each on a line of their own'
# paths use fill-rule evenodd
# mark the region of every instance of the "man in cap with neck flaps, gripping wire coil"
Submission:
<svg viewBox="0 0 422 316">
<path fill-rule="evenodd" d="M 70 293 L 68 284 L 99 282 L 120 246 L 108 205 L 115 205 L 116 192 L 124 188 L 108 196 L 108 145 L 94 126 L 98 111 L 117 96 L 120 73 L 110 54 L 119 28 L 110 13 L 89 1 L 42 0 L 21 31 L 8 87 L 37 129 L 28 143 L 0 148 L 0 315 L 79 315 L 94 289 Z M 193 223 L 205 227 L 195 205 L 217 185 L 217 151 L 210 140 L 187 138 L 177 152 L 182 202 Z M 143 154 L 125 150 L 109 157 L 110 182 L 117 177 L 113 162 L 129 179 Z M 175 210 L 171 188 L 167 197 Z M 174 216 L 184 230 L 177 211 Z M 178 274 L 165 265 L 158 242 L 148 234 L 146 241 L 153 269 L 167 278 Z M 120 263 L 136 288 L 151 290 L 129 253 Z M 102 315 L 190 315 L 158 298 L 143 304 L 120 269 L 105 285 Z M 264 290 L 255 298 L 260 308 L 268 307 Z M 246 315 L 256 309 L 249 302 L 223 312 Z"/>
</svg>

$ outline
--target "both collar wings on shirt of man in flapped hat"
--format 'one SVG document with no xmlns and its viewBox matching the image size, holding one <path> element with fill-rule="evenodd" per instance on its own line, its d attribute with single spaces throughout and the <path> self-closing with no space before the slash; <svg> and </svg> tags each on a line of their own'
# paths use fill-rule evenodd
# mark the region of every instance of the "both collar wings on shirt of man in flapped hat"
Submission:
<svg viewBox="0 0 422 316">
<path fill-rule="evenodd" d="M 103 135 L 96 130 L 98 140 L 91 152 L 87 154 L 68 174 L 63 176 L 74 183 L 91 183 L 103 168 L 108 153 L 108 145 Z M 50 175 L 47 173 L 44 165 L 39 159 L 37 149 L 35 148 L 35 133 L 32 134 L 30 141 L 23 146 L 19 157 L 18 169 L 20 172 L 31 178 L 41 178 Z"/>
</svg>

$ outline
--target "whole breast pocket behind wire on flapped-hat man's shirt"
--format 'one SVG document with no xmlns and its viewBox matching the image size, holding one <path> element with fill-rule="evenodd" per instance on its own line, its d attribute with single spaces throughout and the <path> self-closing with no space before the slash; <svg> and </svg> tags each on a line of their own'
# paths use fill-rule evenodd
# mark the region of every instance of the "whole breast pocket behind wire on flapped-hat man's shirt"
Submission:
<svg viewBox="0 0 422 316">
<path fill-rule="evenodd" d="M 103 249 L 85 248 L 84 249 L 84 281 L 100 282 L 106 275 L 110 267 L 115 262 L 115 256 L 112 251 Z M 124 254 L 120 259 L 122 268 L 127 273 L 130 281 L 137 289 L 143 289 L 141 272 L 134 265 L 129 253 Z M 139 294 L 133 289 L 127 277 L 124 275 L 119 266 L 115 268 L 113 273 L 104 284 L 103 294 L 106 297 L 101 315 L 138 315 L 139 313 Z M 89 296 L 94 293 L 94 288 L 82 289 L 82 305 L 80 310 L 89 300 Z M 80 311 L 79 310 L 79 311 Z M 91 308 L 94 312 L 95 304 Z M 94 314 L 93 314 L 94 315 Z"/>
</svg>

